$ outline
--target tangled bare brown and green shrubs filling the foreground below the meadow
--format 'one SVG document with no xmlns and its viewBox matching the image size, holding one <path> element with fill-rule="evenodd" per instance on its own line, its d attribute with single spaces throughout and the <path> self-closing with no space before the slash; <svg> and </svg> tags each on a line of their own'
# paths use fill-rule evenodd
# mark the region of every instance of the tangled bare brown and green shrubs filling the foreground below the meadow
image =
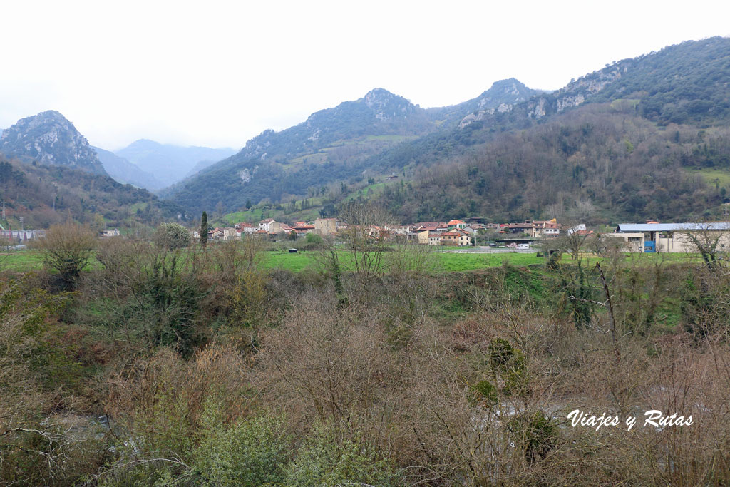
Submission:
<svg viewBox="0 0 730 487">
<path fill-rule="evenodd" d="M 3 483 L 730 480 L 723 265 L 604 250 L 427 275 L 407 246 L 377 269 L 325 246 L 295 274 L 265 251 L 107 239 L 70 293 L 4 272 Z M 639 424 L 573 428 L 574 409 Z M 643 428 L 650 409 L 694 424 Z"/>
</svg>

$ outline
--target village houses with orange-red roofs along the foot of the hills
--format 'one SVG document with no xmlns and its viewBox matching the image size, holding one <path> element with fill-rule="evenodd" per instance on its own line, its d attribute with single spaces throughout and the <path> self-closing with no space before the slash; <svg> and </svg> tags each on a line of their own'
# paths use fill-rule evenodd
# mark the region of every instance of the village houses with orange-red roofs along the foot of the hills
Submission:
<svg viewBox="0 0 730 487">
<path fill-rule="evenodd" d="M 373 238 L 404 237 L 417 241 L 422 245 L 450 245 L 466 247 L 474 245 L 477 234 L 487 232 L 502 237 L 498 242 L 507 247 L 529 248 L 529 242 L 534 239 L 545 237 L 558 237 L 560 226 L 555 219 L 548 221 L 525 221 L 523 223 L 483 223 L 480 218 L 472 218 L 468 221 L 451 220 L 448 222 L 422 222 L 402 226 L 377 226 L 367 228 L 368 234 Z M 347 229 L 347 223 L 337 218 L 317 218 L 313 222 L 296 222 L 293 225 L 266 218 L 253 223 L 237 223 L 235 226 L 226 228 L 215 228 L 208 232 L 210 240 L 231 240 L 240 239 L 242 235 L 250 234 L 255 236 L 277 238 L 283 235 L 296 234 L 297 237 L 308 233 L 321 236 L 334 236 Z M 199 237 L 197 231 L 193 237 Z M 520 238 L 509 238 L 520 237 Z"/>
</svg>

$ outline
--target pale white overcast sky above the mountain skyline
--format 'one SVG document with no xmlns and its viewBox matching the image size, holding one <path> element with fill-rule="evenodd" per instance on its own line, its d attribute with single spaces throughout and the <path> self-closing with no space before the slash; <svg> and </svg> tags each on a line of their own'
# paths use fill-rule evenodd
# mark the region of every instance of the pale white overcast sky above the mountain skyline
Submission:
<svg viewBox="0 0 730 487">
<path fill-rule="evenodd" d="M 0 128 L 58 110 L 92 145 L 239 149 L 380 87 L 421 107 L 553 90 L 716 35 L 730 1 L 5 1 Z"/>
</svg>

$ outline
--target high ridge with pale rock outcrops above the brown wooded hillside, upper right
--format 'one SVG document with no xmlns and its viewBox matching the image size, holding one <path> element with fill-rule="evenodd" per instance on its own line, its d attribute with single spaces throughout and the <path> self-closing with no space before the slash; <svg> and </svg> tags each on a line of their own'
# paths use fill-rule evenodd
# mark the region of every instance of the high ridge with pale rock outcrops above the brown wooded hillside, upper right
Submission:
<svg viewBox="0 0 730 487">
<path fill-rule="evenodd" d="M 614 61 L 553 93 L 533 96 L 509 110 L 464 118 L 500 130 L 531 124 L 585 103 L 632 104 L 648 120 L 711 126 L 730 122 L 730 38 L 712 37 Z"/>
</svg>

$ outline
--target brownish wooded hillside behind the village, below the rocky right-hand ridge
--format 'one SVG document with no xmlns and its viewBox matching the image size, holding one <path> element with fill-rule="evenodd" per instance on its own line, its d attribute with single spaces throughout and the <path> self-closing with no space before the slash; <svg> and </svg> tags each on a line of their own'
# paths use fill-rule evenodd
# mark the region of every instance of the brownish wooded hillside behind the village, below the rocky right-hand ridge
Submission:
<svg viewBox="0 0 730 487">
<path fill-rule="evenodd" d="M 730 188 L 687 169 L 730 171 L 729 149 L 727 128 L 665 129 L 626 105 L 591 104 L 419 167 L 408 183 L 387 185 L 380 203 L 404 222 L 708 218 Z"/>
</svg>

